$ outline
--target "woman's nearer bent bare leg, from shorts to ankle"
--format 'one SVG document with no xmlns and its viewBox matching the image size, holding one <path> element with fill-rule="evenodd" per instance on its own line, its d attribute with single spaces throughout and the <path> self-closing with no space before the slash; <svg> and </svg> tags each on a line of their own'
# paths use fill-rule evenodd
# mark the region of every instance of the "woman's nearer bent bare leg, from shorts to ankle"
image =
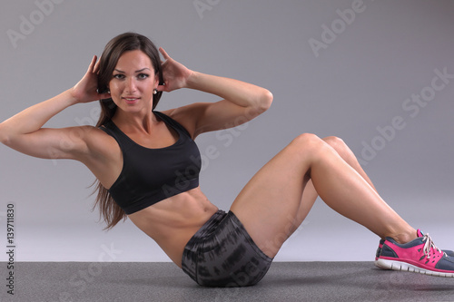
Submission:
<svg viewBox="0 0 454 302">
<path fill-rule="evenodd" d="M 331 209 L 381 238 L 404 241 L 416 236 L 411 235 L 416 230 L 331 146 L 302 134 L 263 166 L 232 204 L 232 212 L 271 258 L 291 235 L 309 180 Z"/>
</svg>

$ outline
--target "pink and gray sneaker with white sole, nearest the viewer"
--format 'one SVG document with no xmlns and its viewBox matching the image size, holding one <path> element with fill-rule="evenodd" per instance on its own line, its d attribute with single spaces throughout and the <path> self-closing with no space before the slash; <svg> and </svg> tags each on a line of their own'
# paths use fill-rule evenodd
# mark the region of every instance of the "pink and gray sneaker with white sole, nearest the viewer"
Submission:
<svg viewBox="0 0 454 302">
<path fill-rule="evenodd" d="M 405 244 L 387 238 L 375 261 L 379 268 L 407 270 L 420 274 L 454 277 L 454 257 L 448 256 L 434 244 L 429 234 L 418 229 L 418 238 Z"/>
</svg>

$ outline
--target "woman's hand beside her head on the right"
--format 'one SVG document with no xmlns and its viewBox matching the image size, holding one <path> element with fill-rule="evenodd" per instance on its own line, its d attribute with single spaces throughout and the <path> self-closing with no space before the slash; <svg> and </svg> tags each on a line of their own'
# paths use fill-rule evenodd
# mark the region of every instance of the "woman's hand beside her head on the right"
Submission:
<svg viewBox="0 0 454 302">
<path fill-rule="evenodd" d="M 167 54 L 162 47 L 159 48 L 165 59 L 163 62 L 163 85 L 158 85 L 158 91 L 170 93 L 173 90 L 184 88 L 192 75 L 192 70 L 186 68 L 182 63 L 178 63 Z"/>
</svg>

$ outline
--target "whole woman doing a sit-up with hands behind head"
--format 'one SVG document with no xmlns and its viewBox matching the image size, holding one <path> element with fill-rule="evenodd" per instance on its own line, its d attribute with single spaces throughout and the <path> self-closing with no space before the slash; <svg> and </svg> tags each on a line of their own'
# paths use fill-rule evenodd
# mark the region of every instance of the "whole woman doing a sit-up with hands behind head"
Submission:
<svg viewBox="0 0 454 302">
<path fill-rule="evenodd" d="M 120 34 L 73 88 L 0 124 L 2 142 L 35 157 L 83 162 L 99 180 L 96 202 L 107 228 L 127 216 L 202 286 L 259 282 L 317 196 L 380 236 L 379 267 L 454 276 L 454 258 L 381 200 L 335 137 L 301 134 L 257 172 L 228 213 L 219 210 L 200 190 L 193 139 L 252 120 L 272 95 L 194 72 L 160 52 L 163 63 L 146 37 Z M 222 101 L 154 111 L 163 92 L 181 88 Z M 42 128 L 65 108 L 96 100 L 103 109 L 97 127 Z"/>
</svg>

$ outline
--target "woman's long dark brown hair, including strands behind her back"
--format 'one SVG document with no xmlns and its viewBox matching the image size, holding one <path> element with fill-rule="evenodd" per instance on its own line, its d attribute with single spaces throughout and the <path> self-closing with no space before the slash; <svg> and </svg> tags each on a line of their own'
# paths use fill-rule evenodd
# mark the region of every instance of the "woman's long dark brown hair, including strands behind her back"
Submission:
<svg viewBox="0 0 454 302">
<path fill-rule="evenodd" d="M 98 92 L 106 93 L 109 91 L 109 83 L 114 73 L 114 68 L 118 63 L 120 56 L 128 51 L 140 50 L 147 54 L 152 60 L 154 74 L 158 74 L 159 83 L 163 83 L 163 70 L 161 67 L 161 59 L 156 46 L 150 39 L 142 34 L 125 33 L 119 34 L 114 39 L 105 45 L 104 52 L 101 55 L 98 74 Z M 153 108 L 156 107 L 163 92 L 153 94 Z M 112 98 L 99 101 L 101 105 L 101 114 L 96 123 L 96 127 L 104 125 L 105 122 L 111 120 L 117 110 L 117 106 Z M 94 180 L 94 192 L 97 191 L 96 199 L 94 200 L 94 208 L 100 209 L 100 216 L 106 223 L 105 229 L 112 229 L 120 221 L 126 219 L 126 214 L 114 201 L 109 191 L 99 182 Z"/>
</svg>

